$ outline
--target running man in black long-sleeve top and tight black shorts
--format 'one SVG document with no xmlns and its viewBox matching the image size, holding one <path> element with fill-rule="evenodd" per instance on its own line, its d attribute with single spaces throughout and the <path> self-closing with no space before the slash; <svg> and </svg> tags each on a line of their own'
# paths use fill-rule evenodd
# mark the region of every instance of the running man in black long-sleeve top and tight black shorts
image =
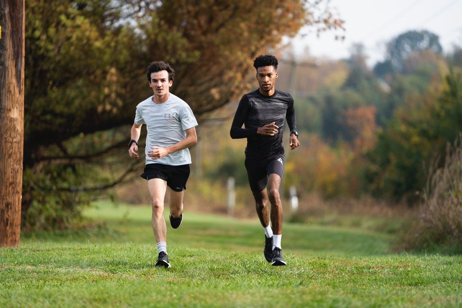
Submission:
<svg viewBox="0 0 462 308">
<path fill-rule="evenodd" d="M 278 78 L 278 60 L 273 55 L 259 55 L 254 60 L 254 67 L 260 87 L 241 98 L 230 134 L 232 139 L 247 138 L 245 168 L 255 197 L 258 218 L 265 229 L 264 256 L 271 265 L 281 266 L 286 265 L 281 250 L 282 204 L 279 195 L 285 160 L 282 146 L 285 119 L 290 129 L 291 150 L 300 143 L 297 139 L 293 97 L 274 89 Z M 243 124 L 245 128 L 242 128 Z M 267 184 L 273 229 L 269 224 Z"/>
</svg>

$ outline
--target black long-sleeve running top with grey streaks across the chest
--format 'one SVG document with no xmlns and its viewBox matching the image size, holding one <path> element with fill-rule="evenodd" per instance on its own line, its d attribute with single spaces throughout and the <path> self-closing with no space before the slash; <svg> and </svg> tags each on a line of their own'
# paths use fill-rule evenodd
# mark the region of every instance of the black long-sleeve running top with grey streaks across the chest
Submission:
<svg viewBox="0 0 462 308">
<path fill-rule="evenodd" d="M 293 97 L 276 90 L 271 96 L 264 96 L 257 89 L 244 94 L 231 124 L 231 138 L 247 138 L 247 148 L 268 149 L 282 145 L 284 119 L 290 131 L 297 129 Z M 258 127 L 276 122 L 279 127 L 274 136 L 257 134 Z M 242 124 L 245 128 L 242 128 Z"/>
</svg>

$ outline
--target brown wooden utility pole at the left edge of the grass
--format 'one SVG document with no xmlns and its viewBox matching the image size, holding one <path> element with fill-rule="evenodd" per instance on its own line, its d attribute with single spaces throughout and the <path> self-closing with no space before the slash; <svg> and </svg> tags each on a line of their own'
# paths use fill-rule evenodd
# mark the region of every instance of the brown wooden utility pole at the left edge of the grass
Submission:
<svg viewBox="0 0 462 308">
<path fill-rule="evenodd" d="M 24 0 L 0 0 L 0 247 L 18 247 L 24 140 Z"/>
</svg>

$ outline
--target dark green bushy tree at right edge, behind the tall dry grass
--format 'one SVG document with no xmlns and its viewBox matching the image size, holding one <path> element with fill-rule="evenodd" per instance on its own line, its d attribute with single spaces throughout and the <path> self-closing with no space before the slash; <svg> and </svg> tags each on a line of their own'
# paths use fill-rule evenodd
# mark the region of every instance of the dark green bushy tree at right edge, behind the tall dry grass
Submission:
<svg viewBox="0 0 462 308">
<path fill-rule="evenodd" d="M 426 184 L 428 166 L 444 157 L 462 132 L 462 75 L 450 72 L 437 95 L 424 93 L 398 107 L 368 153 L 365 185 L 377 196 L 409 203 Z M 444 163 L 442 159 L 440 166 Z"/>
</svg>

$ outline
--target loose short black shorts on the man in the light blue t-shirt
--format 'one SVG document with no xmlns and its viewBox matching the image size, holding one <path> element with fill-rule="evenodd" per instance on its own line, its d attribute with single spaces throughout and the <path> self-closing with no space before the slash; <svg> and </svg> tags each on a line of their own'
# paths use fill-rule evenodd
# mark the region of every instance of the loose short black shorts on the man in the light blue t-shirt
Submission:
<svg viewBox="0 0 462 308">
<path fill-rule="evenodd" d="M 151 179 L 163 179 L 167 181 L 168 187 L 176 192 L 181 192 L 186 189 L 189 171 L 188 164 L 172 166 L 163 163 L 148 163 L 141 177 L 148 181 Z"/>
</svg>

